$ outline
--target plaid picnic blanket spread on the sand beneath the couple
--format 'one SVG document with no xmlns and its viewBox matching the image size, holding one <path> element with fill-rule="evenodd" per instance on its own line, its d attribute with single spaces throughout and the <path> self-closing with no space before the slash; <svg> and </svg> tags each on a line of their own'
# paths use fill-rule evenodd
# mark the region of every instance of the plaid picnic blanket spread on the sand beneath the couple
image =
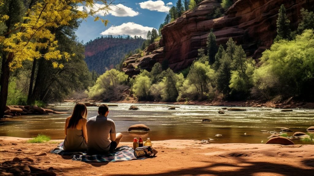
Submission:
<svg viewBox="0 0 314 176">
<path fill-rule="evenodd" d="M 65 152 L 63 150 L 63 142 L 61 142 L 58 147 L 51 150 L 51 153 L 58 155 L 69 155 L 73 157 L 72 160 L 84 162 L 115 162 L 148 158 L 145 156 L 139 158 L 135 157 L 133 148 L 128 146 L 118 147 L 113 153 L 106 155 L 87 155 L 84 152 Z"/>
</svg>

